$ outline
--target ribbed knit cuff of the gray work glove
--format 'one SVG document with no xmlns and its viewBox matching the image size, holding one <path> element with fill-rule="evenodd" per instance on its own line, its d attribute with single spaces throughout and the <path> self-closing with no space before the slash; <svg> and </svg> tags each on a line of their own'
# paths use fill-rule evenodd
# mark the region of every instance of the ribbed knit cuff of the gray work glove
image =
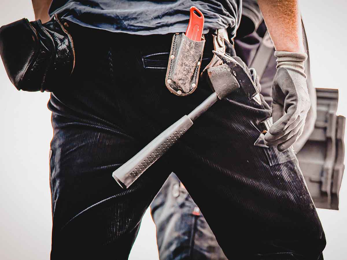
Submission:
<svg viewBox="0 0 347 260">
<path fill-rule="evenodd" d="M 290 51 L 275 51 L 277 57 L 277 66 L 279 67 L 291 67 L 299 69 L 304 72 L 304 62 L 307 60 L 306 53 L 290 52 Z"/>
</svg>

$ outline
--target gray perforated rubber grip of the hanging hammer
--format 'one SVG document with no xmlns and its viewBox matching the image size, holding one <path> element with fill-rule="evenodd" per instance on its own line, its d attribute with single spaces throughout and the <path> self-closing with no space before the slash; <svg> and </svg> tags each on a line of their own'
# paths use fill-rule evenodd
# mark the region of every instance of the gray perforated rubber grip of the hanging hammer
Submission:
<svg viewBox="0 0 347 260">
<path fill-rule="evenodd" d="M 146 145 L 133 158 L 113 172 L 112 176 L 124 189 L 162 156 L 175 142 L 193 125 L 187 115 L 163 131 L 153 141 Z"/>
</svg>

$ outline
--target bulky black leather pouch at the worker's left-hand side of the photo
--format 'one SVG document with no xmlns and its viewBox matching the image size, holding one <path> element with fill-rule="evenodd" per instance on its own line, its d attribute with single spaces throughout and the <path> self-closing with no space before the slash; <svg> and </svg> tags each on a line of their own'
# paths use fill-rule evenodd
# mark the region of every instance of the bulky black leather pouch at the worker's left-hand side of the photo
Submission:
<svg viewBox="0 0 347 260">
<path fill-rule="evenodd" d="M 53 91 L 75 64 L 73 41 L 57 16 L 41 24 L 23 18 L 0 28 L 0 55 L 12 84 L 25 91 Z"/>
</svg>

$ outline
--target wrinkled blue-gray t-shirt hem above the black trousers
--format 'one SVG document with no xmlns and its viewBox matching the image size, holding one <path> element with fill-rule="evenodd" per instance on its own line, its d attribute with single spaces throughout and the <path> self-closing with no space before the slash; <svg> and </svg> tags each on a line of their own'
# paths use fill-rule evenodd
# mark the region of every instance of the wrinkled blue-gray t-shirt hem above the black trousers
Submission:
<svg viewBox="0 0 347 260">
<path fill-rule="evenodd" d="M 185 32 L 189 8 L 195 6 L 205 17 L 203 33 L 228 28 L 234 35 L 241 18 L 240 2 L 242 0 L 53 0 L 49 14 L 110 32 L 150 35 Z"/>
</svg>

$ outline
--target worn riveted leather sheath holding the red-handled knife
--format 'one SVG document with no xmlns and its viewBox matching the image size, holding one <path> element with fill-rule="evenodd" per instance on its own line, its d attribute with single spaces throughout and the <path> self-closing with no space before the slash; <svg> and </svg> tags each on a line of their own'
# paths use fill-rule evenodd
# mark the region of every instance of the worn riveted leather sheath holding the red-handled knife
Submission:
<svg viewBox="0 0 347 260">
<path fill-rule="evenodd" d="M 165 84 L 171 93 L 186 96 L 197 87 L 205 38 L 193 41 L 184 33 L 172 38 Z"/>
</svg>

